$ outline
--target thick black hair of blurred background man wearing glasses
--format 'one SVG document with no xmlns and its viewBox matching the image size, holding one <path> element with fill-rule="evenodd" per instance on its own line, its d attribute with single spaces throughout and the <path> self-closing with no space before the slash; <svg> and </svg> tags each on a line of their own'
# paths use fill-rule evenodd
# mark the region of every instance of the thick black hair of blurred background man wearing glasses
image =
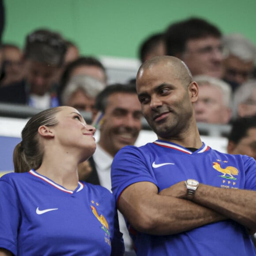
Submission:
<svg viewBox="0 0 256 256">
<path fill-rule="evenodd" d="M 192 17 L 171 24 L 165 33 L 166 53 L 169 56 L 177 56 L 186 50 L 189 39 L 206 38 L 213 36 L 221 38 L 222 33 L 217 26 L 204 19 Z"/>
</svg>

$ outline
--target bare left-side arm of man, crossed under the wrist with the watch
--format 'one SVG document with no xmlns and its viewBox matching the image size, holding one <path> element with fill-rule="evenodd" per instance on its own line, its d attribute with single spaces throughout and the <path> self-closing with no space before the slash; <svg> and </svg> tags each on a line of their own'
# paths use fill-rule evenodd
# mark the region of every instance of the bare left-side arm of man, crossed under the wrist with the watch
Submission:
<svg viewBox="0 0 256 256">
<path fill-rule="evenodd" d="M 143 186 L 147 192 L 143 192 Z M 155 185 L 148 182 L 126 188 L 118 208 L 136 230 L 154 235 L 181 233 L 226 219 L 197 203 L 165 196 L 164 192 L 157 194 Z"/>
</svg>

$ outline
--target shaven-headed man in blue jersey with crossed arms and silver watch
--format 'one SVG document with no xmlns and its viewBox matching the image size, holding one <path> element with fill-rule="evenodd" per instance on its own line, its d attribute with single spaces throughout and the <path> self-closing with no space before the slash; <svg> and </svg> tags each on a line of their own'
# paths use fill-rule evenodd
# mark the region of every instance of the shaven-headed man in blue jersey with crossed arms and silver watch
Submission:
<svg viewBox="0 0 256 256">
<path fill-rule="evenodd" d="M 122 148 L 112 190 L 137 255 L 256 255 L 256 162 L 205 145 L 198 85 L 187 66 L 158 56 L 139 68 L 142 112 L 158 140 Z"/>
</svg>

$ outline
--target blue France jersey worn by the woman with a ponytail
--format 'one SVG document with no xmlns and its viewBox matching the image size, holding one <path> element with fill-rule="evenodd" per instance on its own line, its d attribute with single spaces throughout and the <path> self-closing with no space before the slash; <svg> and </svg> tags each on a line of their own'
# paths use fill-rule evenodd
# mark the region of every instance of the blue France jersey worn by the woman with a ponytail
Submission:
<svg viewBox="0 0 256 256">
<path fill-rule="evenodd" d="M 65 189 L 34 170 L 0 179 L 0 248 L 14 255 L 122 255 L 113 195 L 79 182 Z"/>
</svg>

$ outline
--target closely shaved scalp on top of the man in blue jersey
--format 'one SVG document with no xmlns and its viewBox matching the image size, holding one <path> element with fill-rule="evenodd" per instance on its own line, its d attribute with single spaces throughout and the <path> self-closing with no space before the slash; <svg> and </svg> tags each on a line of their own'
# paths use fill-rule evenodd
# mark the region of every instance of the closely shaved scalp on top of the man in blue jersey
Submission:
<svg viewBox="0 0 256 256">
<path fill-rule="evenodd" d="M 137 72 L 137 79 L 143 75 L 143 71 L 151 69 L 157 65 L 168 65 L 172 70 L 174 79 L 179 79 L 184 86 L 188 86 L 192 82 L 192 75 L 184 62 L 174 56 L 156 56 L 150 60 L 145 61 Z"/>
</svg>

